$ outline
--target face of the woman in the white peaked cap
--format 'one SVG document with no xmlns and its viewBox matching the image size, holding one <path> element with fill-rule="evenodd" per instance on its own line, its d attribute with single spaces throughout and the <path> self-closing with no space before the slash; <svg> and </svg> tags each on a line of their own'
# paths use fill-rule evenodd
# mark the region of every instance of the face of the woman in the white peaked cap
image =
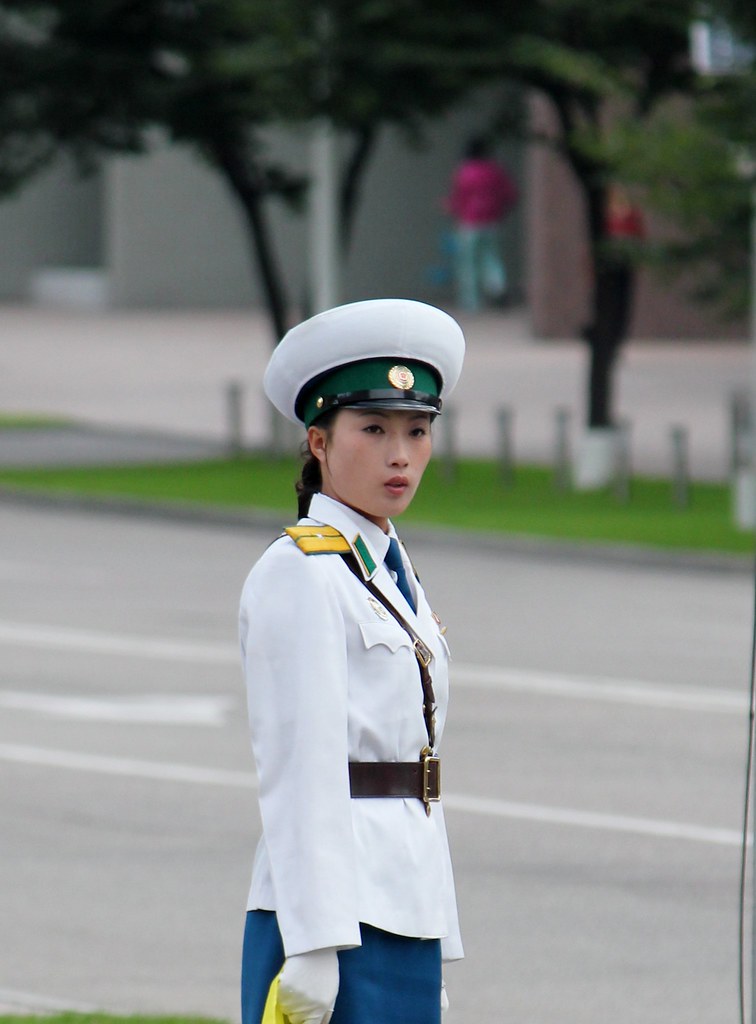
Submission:
<svg viewBox="0 0 756 1024">
<path fill-rule="evenodd" d="M 430 416 L 405 410 L 342 409 L 330 428 L 307 431 L 323 494 L 383 530 L 415 496 L 431 453 Z"/>
</svg>

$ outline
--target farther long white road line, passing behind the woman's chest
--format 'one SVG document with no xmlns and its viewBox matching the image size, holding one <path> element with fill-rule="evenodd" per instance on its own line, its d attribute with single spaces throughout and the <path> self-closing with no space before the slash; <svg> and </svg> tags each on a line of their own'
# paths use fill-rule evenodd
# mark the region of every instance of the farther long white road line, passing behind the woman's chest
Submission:
<svg viewBox="0 0 756 1024">
<path fill-rule="evenodd" d="M 200 643 L 193 640 L 155 640 L 151 637 L 95 633 L 68 627 L 33 623 L 0 622 L 0 644 L 10 646 L 75 650 L 115 656 L 194 662 L 209 665 L 240 665 L 240 654 L 232 644 Z M 663 683 L 602 677 L 577 677 L 556 672 L 534 672 L 496 666 L 452 663 L 455 687 L 510 690 L 549 694 L 579 700 L 605 700 L 646 708 L 677 711 L 746 714 L 748 697 L 737 690 L 711 687 L 671 687 Z"/>
</svg>

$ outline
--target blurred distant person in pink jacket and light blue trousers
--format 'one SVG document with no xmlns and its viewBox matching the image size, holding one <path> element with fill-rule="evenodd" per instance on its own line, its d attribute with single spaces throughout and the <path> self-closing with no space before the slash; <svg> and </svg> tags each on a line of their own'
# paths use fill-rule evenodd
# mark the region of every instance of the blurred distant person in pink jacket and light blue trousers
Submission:
<svg viewBox="0 0 756 1024">
<path fill-rule="evenodd" d="M 472 138 L 454 172 L 446 200 L 455 221 L 457 299 L 469 312 L 484 298 L 500 299 L 507 287 L 498 228 L 517 202 L 517 187 L 490 154 L 484 138 Z"/>
</svg>

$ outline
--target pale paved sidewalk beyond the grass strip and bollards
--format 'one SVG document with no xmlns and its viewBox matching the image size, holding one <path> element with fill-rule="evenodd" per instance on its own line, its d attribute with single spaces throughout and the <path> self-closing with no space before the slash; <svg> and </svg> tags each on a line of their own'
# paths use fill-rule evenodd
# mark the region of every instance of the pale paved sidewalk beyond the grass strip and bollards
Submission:
<svg viewBox="0 0 756 1024">
<path fill-rule="evenodd" d="M 0 466 L 217 455 L 235 431 L 229 386 L 242 389 L 243 443 L 257 446 L 270 436 L 261 380 L 271 336 L 261 313 L 5 306 L 0 323 L 0 416 L 74 421 L 65 429 L 0 431 Z M 462 315 L 460 323 L 467 357 L 449 402 L 457 451 L 495 456 L 503 407 L 513 418 L 516 461 L 553 461 L 559 408 L 570 411 L 574 451 L 584 419 L 585 346 L 534 339 L 521 310 Z M 748 387 L 751 366 L 746 343 L 628 344 L 616 393 L 618 417 L 630 423 L 633 471 L 669 475 L 670 431 L 682 426 L 691 474 L 725 479 L 731 394 Z M 294 431 L 293 446 L 297 437 Z"/>
</svg>

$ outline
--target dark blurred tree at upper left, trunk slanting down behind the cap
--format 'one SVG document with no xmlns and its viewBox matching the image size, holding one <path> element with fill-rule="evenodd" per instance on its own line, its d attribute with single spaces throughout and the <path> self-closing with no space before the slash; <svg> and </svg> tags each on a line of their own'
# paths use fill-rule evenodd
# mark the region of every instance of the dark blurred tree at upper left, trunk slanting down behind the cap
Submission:
<svg viewBox="0 0 756 1024">
<path fill-rule="evenodd" d="M 448 30 L 451 9 L 447 0 L 0 3 L 6 24 L 37 27 L 33 47 L 18 45 L 18 33 L 5 39 L 18 81 L 34 82 L 30 133 L 88 168 L 108 152 L 144 152 L 158 127 L 219 172 L 244 211 L 277 340 L 289 303 L 266 202 L 300 206 L 307 181 L 269 159 L 261 129 L 325 118 L 343 133 L 346 247 L 381 128 L 418 139 L 424 119 L 468 88 L 469 75 L 418 63 L 407 45 Z"/>
</svg>

